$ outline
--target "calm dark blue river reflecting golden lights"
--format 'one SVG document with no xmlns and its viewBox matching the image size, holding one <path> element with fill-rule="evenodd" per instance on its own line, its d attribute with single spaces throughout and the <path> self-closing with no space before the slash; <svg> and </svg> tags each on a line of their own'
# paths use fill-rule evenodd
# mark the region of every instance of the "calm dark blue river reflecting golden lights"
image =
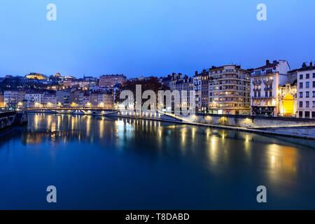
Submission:
<svg viewBox="0 0 315 224">
<path fill-rule="evenodd" d="M 314 141 L 30 114 L 0 138 L 0 209 L 315 209 Z M 46 202 L 57 187 L 57 204 Z M 267 204 L 256 188 L 267 187 Z"/>
</svg>

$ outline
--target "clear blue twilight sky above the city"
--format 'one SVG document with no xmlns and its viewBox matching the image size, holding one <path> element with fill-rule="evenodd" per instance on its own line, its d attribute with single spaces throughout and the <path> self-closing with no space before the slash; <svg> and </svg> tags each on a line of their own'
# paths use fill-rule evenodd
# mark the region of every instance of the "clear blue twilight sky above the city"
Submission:
<svg viewBox="0 0 315 224">
<path fill-rule="evenodd" d="M 315 59 L 314 25 L 314 0 L 0 0 L 0 76 L 193 75 L 267 58 L 295 68 Z"/>
</svg>

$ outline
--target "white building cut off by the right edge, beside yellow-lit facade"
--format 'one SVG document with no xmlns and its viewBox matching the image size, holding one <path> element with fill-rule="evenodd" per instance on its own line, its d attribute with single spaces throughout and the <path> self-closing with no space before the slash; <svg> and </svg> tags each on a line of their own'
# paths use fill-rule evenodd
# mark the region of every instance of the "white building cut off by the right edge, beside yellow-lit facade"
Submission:
<svg viewBox="0 0 315 224">
<path fill-rule="evenodd" d="M 315 119 L 315 66 L 302 64 L 297 72 L 297 116 Z"/>
</svg>

